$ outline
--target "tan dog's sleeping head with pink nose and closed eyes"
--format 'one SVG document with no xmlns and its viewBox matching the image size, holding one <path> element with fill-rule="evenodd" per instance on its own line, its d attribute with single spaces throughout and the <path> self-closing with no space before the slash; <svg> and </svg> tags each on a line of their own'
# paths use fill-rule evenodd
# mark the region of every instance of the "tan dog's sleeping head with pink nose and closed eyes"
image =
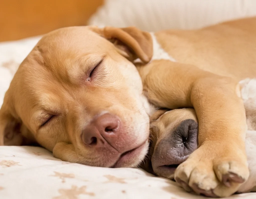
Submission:
<svg viewBox="0 0 256 199">
<path fill-rule="evenodd" d="M 47 34 L 6 92 L 0 145 L 36 142 L 52 151 L 64 142 L 79 157 L 67 155 L 68 161 L 138 165 L 147 152 L 149 118 L 131 61 L 151 57 L 150 34 L 133 27 L 68 27 Z"/>
</svg>

